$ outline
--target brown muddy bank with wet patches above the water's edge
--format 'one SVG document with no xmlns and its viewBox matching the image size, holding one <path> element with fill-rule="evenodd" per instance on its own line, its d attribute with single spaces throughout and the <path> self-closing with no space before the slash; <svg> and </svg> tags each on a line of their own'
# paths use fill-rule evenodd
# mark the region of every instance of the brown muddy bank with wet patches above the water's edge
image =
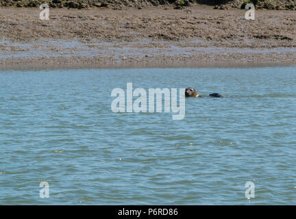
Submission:
<svg viewBox="0 0 296 219">
<path fill-rule="evenodd" d="M 0 69 L 296 64 L 296 12 L 1 8 Z"/>
</svg>

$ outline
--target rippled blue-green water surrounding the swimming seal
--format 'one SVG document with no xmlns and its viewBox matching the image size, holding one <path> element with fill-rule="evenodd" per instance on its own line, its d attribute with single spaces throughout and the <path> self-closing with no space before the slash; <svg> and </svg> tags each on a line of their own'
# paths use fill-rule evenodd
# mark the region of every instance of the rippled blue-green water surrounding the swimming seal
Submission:
<svg viewBox="0 0 296 219">
<path fill-rule="evenodd" d="M 0 82 L 1 205 L 296 204 L 295 67 L 6 70 Z M 183 120 L 114 113 L 127 82 L 225 98 L 186 99 Z"/>
</svg>

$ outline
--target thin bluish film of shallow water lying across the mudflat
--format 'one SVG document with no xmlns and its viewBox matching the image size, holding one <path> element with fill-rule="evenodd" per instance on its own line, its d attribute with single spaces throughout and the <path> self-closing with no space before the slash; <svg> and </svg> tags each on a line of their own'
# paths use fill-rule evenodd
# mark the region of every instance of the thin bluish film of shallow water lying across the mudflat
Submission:
<svg viewBox="0 0 296 219">
<path fill-rule="evenodd" d="M 106 50 L 111 53 L 112 57 L 118 59 L 121 56 L 138 56 L 145 55 L 200 55 L 200 54 L 236 54 L 236 53 L 295 53 L 296 48 L 278 47 L 273 49 L 243 49 L 243 48 L 225 48 L 225 47 L 204 47 L 202 40 L 184 41 L 187 47 L 177 47 L 167 44 L 165 41 L 151 41 L 144 39 L 140 42 L 130 42 L 123 44 L 121 42 L 110 44 L 109 42 L 79 42 L 77 39 L 67 40 L 38 40 L 34 44 L 11 42 L 3 40 L 0 47 L 3 47 L 0 58 L 17 58 L 17 57 L 85 57 L 106 55 Z M 135 47 L 135 44 L 137 47 Z M 160 47 L 161 45 L 161 47 Z M 1 49 L 1 48 L 0 48 Z"/>
</svg>

